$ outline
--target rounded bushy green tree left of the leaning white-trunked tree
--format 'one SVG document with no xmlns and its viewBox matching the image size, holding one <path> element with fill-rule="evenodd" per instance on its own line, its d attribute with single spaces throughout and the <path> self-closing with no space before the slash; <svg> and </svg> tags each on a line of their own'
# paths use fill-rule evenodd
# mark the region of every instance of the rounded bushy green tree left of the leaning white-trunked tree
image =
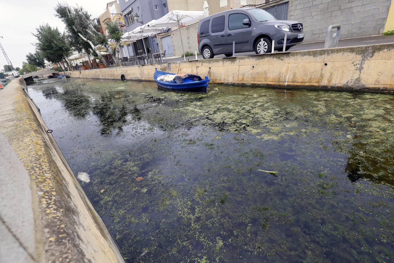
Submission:
<svg viewBox="0 0 394 263">
<path fill-rule="evenodd" d="M 35 46 L 41 55 L 52 63 L 59 63 L 63 60 L 69 63 L 67 57 L 72 53 L 67 37 L 62 35 L 58 28 L 52 28 L 49 24 L 43 24 L 36 30 L 37 33 L 33 34 L 38 40 Z"/>
</svg>

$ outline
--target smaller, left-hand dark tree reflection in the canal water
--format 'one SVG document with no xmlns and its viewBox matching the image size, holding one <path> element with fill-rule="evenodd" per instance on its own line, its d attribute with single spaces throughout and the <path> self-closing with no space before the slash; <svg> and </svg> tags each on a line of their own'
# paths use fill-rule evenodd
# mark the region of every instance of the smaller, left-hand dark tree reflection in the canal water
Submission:
<svg viewBox="0 0 394 263">
<path fill-rule="evenodd" d="M 56 96 L 64 105 L 64 108 L 76 118 L 85 118 L 90 112 L 90 100 L 79 89 L 63 88 L 63 93 Z"/>
</svg>

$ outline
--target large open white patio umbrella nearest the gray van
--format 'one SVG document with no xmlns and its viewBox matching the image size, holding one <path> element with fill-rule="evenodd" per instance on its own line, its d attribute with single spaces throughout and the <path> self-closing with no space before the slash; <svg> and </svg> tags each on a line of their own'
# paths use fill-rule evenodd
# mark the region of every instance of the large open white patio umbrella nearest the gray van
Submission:
<svg viewBox="0 0 394 263">
<path fill-rule="evenodd" d="M 204 11 L 183 11 L 183 10 L 171 10 L 167 15 L 157 19 L 151 23 L 151 26 L 156 27 L 172 27 L 178 26 L 180 42 L 182 44 L 182 52 L 185 55 L 183 47 L 182 34 L 180 32 L 180 26 L 190 24 L 191 22 L 197 21 L 204 17 Z M 185 56 L 184 59 L 186 60 Z"/>
</svg>

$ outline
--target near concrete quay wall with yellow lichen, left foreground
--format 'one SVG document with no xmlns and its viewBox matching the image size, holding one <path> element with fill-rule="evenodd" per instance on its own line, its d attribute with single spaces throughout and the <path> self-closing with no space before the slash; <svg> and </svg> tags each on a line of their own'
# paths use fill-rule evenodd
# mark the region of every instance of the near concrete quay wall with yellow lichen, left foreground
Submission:
<svg viewBox="0 0 394 263">
<path fill-rule="evenodd" d="M 0 262 L 123 262 L 23 78 L 0 90 Z"/>
</svg>

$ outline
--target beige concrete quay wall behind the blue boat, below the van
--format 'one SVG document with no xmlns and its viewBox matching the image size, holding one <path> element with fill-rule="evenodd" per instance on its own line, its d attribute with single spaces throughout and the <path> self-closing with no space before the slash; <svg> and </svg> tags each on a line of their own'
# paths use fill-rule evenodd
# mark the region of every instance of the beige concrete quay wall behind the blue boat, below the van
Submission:
<svg viewBox="0 0 394 263">
<path fill-rule="evenodd" d="M 394 92 L 394 43 L 71 71 L 74 78 L 152 81 L 155 68 L 210 83 Z"/>
</svg>

